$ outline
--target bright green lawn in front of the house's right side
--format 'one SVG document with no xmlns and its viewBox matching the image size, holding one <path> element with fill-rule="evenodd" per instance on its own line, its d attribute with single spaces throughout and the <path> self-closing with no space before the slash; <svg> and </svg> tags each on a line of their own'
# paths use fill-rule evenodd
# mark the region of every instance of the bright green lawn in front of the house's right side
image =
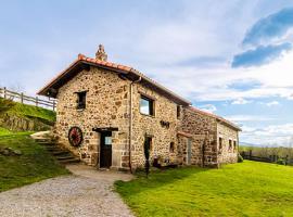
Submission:
<svg viewBox="0 0 293 217">
<path fill-rule="evenodd" d="M 293 216 L 293 167 L 245 161 L 117 181 L 138 216 Z"/>
</svg>

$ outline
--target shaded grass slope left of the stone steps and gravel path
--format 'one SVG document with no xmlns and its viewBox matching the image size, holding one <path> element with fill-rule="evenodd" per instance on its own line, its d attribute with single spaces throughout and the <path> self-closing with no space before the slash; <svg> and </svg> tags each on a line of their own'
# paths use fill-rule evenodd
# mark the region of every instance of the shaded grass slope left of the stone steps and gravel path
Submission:
<svg viewBox="0 0 293 217">
<path fill-rule="evenodd" d="M 7 133 L 0 129 L 0 148 L 22 151 L 20 156 L 0 154 L 0 192 L 47 178 L 69 174 L 30 137 L 30 132 Z"/>
</svg>

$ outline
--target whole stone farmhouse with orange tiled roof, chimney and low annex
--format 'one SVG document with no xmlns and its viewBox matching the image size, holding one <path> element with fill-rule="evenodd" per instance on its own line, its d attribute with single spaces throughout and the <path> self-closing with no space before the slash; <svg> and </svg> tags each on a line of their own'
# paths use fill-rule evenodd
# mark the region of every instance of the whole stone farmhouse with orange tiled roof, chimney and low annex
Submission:
<svg viewBox="0 0 293 217">
<path fill-rule="evenodd" d="M 215 167 L 235 163 L 239 131 L 198 110 L 139 71 L 82 54 L 38 94 L 58 99 L 53 129 L 60 144 L 88 165 L 120 170 L 154 165 Z"/>
</svg>

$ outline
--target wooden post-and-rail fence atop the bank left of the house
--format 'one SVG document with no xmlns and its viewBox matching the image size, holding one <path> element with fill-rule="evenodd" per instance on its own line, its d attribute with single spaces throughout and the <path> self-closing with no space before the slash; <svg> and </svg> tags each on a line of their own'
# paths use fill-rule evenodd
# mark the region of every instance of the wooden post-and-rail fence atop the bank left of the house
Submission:
<svg viewBox="0 0 293 217">
<path fill-rule="evenodd" d="M 23 92 L 14 92 L 11 90 L 8 90 L 7 88 L 0 88 L 0 98 L 18 101 L 23 104 L 31 104 L 38 107 L 46 107 L 55 111 L 56 107 L 56 101 L 55 100 L 42 100 L 38 97 L 33 98 L 25 95 Z M 15 100 L 16 99 L 16 100 Z"/>
</svg>

